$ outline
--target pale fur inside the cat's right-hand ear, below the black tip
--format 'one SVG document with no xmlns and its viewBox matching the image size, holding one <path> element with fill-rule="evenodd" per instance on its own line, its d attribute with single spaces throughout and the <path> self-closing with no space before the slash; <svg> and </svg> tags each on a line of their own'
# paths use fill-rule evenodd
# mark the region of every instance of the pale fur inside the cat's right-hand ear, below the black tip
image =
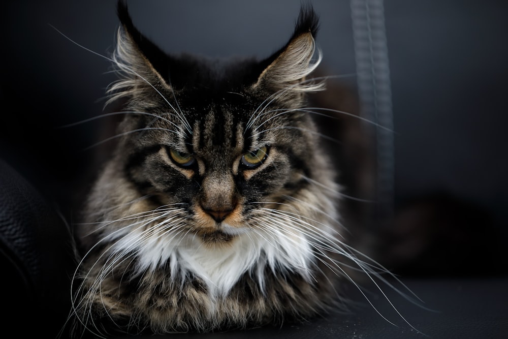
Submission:
<svg viewBox="0 0 508 339">
<path fill-rule="evenodd" d="M 277 58 L 261 73 L 256 86 L 268 86 L 275 90 L 308 92 L 324 89 L 324 82 L 314 83 L 306 77 L 321 63 L 322 54 L 312 60 L 315 51 L 314 38 L 309 33 L 293 39 Z"/>
</svg>

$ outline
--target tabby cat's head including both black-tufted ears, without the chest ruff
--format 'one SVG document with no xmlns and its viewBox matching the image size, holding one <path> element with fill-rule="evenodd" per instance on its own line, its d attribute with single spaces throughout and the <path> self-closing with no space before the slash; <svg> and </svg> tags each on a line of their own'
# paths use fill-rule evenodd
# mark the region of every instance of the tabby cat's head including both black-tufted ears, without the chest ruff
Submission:
<svg viewBox="0 0 508 339">
<path fill-rule="evenodd" d="M 333 214 L 316 184 L 333 186 L 305 110 L 305 93 L 323 88 L 309 77 L 321 59 L 310 7 L 273 55 L 224 63 L 166 54 L 139 32 L 122 2 L 118 14 L 121 78 L 110 93 L 125 101 L 126 114 L 112 176 L 149 197 L 151 209 L 182 209 L 186 227 L 207 243 L 228 242 L 270 208 L 288 205 L 298 214 L 317 206 Z"/>
</svg>

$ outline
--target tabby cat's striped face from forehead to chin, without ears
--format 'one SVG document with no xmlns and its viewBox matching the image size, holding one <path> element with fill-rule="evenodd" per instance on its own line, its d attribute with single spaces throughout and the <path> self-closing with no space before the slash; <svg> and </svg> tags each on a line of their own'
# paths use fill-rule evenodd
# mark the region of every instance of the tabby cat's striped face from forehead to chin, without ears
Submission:
<svg viewBox="0 0 508 339">
<path fill-rule="evenodd" d="M 162 89 L 150 106 L 130 107 L 119 160 L 140 193 L 179 204 L 207 241 L 251 227 L 259 207 L 287 201 L 323 166 L 307 115 L 255 84 Z"/>
</svg>

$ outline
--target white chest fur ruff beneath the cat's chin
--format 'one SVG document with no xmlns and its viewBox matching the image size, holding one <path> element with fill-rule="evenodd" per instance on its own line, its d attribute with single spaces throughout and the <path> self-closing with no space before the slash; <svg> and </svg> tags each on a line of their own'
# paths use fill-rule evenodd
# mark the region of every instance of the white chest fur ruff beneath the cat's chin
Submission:
<svg viewBox="0 0 508 339">
<path fill-rule="evenodd" d="M 135 233 L 119 239 L 114 251 L 132 249 L 134 244 L 141 271 L 156 269 L 169 260 L 169 276 L 176 279 L 193 273 L 203 280 L 214 297 L 228 294 L 249 271 L 263 289 L 267 266 L 272 270 L 297 272 L 307 279 L 311 274 L 311 245 L 305 235 L 297 231 L 270 234 L 245 231 L 237 234 L 231 243 L 221 246 L 205 245 L 193 235 L 140 237 Z"/>
</svg>

